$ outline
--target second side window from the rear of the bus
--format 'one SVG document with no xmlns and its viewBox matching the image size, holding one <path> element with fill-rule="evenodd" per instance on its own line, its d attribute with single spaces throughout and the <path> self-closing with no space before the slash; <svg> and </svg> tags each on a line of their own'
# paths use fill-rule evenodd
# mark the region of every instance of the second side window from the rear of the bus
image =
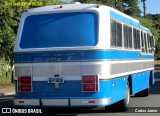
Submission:
<svg viewBox="0 0 160 116">
<path fill-rule="evenodd" d="M 132 48 L 132 28 L 124 25 L 124 47 Z"/>
</svg>

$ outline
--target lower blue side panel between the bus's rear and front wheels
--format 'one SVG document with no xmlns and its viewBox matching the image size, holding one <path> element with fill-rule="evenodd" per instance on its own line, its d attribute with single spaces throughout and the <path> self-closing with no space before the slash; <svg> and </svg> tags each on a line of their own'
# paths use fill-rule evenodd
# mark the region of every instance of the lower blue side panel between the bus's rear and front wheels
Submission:
<svg viewBox="0 0 160 116">
<path fill-rule="evenodd" d="M 149 88 L 150 71 L 141 72 L 132 75 L 132 94 L 136 94 L 146 88 Z"/>
</svg>

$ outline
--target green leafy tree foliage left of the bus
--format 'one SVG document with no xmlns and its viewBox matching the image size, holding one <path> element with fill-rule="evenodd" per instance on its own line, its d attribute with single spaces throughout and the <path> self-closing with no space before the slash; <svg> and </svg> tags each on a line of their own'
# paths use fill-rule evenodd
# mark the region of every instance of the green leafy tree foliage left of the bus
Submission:
<svg viewBox="0 0 160 116">
<path fill-rule="evenodd" d="M 13 66 L 13 46 L 20 16 L 28 8 L 62 4 L 59 0 L 1 0 L 0 1 L 0 59 Z"/>
</svg>

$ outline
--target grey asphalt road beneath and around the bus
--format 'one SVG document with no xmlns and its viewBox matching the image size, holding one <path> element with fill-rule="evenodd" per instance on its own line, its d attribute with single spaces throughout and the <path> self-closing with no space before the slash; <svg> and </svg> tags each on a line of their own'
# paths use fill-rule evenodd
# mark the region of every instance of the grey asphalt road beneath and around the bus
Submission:
<svg viewBox="0 0 160 116">
<path fill-rule="evenodd" d="M 0 97 L 0 116 L 2 116 L 2 108 L 16 108 L 13 105 L 13 96 L 5 96 Z M 146 113 L 148 110 L 151 113 Z M 145 112 L 146 111 L 146 112 Z M 145 112 L 145 113 L 144 113 Z M 157 113 L 158 112 L 158 113 Z M 104 108 L 95 108 L 95 109 L 42 109 L 42 114 L 45 113 L 59 116 L 159 116 L 160 115 L 160 72 L 155 72 L 155 84 L 150 88 L 150 95 L 148 97 L 131 97 L 130 108 L 126 112 L 118 111 L 118 110 L 109 110 L 105 111 Z M 3 114 L 3 115 L 11 115 L 11 114 Z M 17 114 L 13 114 L 16 115 Z M 22 115 L 22 114 L 21 114 Z M 26 116 L 31 116 L 31 114 L 24 114 Z M 24 116 L 23 115 L 23 116 Z M 34 114 L 35 115 L 35 114 Z"/>
</svg>

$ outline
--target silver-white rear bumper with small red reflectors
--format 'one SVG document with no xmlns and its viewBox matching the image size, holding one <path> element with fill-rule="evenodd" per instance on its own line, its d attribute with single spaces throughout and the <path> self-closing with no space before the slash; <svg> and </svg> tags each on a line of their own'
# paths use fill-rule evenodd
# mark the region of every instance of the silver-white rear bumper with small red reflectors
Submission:
<svg viewBox="0 0 160 116">
<path fill-rule="evenodd" d="M 81 107 L 106 106 L 111 98 L 101 99 L 14 99 L 16 106 L 51 106 L 51 107 Z"/>
</svg>

